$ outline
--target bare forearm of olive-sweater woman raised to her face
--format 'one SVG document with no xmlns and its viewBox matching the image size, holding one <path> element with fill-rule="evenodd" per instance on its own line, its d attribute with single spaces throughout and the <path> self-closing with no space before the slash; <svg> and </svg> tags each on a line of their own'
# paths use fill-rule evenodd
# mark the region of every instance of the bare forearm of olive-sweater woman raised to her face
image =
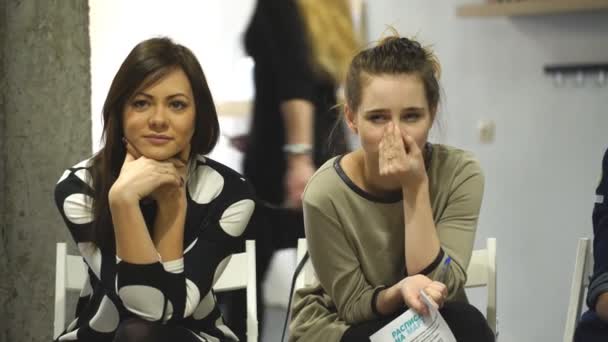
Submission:
<svg viewBox="0 0 608 342">
<path fill-rule="evenodd" d="M 403 190 L 405 214 L 405 260 L 409 275 L 420 273 L 439 254 L 441 248 L 435 229 L 428 181 L 417 188 Z"/>
</svg>

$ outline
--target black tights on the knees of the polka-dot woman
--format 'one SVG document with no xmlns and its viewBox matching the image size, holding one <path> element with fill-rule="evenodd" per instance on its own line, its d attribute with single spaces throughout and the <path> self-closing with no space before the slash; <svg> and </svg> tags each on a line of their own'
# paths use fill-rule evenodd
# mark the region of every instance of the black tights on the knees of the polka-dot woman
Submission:
<svg viewBox="0 0 608 342">
<path fill-rule="evenodd" d="M 186 328 L 129 318 L 120 323 L 113 342 L 200 342 Z"/>
</svg>

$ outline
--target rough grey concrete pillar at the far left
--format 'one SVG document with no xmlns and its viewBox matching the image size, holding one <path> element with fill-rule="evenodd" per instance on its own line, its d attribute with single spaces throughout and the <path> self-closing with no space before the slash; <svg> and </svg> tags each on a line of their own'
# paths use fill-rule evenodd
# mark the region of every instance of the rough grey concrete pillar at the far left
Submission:
<svg viewBox="0 0 608 342">
<path fill-rule="evenodd" d="M 62 171 L 90 154 L 89 7 L 0 0 L 0 341 L 50 341 Z M 70 309 L 71 311 L 72 309 Z"/>
</svg>

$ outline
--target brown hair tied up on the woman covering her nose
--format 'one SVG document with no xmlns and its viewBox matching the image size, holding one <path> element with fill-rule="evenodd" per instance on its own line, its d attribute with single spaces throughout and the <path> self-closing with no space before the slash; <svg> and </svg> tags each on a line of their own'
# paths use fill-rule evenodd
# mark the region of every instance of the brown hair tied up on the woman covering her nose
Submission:
<svg viewBox="0 0 608 342">
<path fill-rule="evenodd" d="M 431 114 L 439 105 L 441 68 L 434 53 L 415 40 L 397 35 L 382 39 L 376 46 L 359 52 L 351 62 L 346 75 L 346 103 L 352 111 L 361 105 L 362 89 L 370 76 L 410 74 L 420 78 L 424 85 Z"/>
</svg>

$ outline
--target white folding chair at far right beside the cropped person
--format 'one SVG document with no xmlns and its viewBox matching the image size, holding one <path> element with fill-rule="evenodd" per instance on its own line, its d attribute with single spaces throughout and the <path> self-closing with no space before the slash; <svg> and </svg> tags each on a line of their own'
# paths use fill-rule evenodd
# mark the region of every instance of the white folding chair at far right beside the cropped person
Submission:
<svg viewBox="0 0 608 342">
<path fill-rule="evenodd" d="M 589 285 L 589 277 L 591 276 L 592 269 L 593 258 L 591 255 L 591 241 L 589 238 L 580 238 L 578 239 L 578 245 L 576 247 L 574 274 L 572 275 L 566 327 L 564 328 L 564 342 L 572 342 L 574 339 L 574 330 L 581 317 L 585 289 L 587 289 L 587 286 Z"/>
</svg>

